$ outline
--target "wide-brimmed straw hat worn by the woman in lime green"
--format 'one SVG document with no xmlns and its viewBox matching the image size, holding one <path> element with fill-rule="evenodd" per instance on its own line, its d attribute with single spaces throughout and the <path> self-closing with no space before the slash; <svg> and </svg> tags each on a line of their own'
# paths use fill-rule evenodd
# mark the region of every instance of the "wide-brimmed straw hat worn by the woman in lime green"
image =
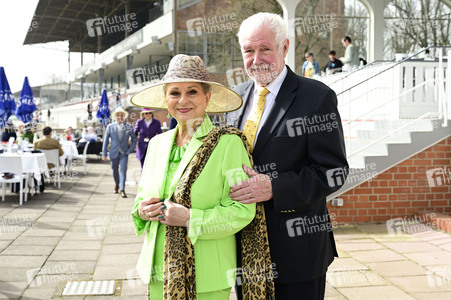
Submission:
<svg viewBox="0 0 451 300">
<path fill-rule="evenodd" d="M 134 95 L 130 102 L 136 106 L 167 108 L 163 85 L 176 82 L 204 82 L 211 86 L 211 98 L 207 113 L 223 113 L 237 110 L 243 105 L 241 97 L 231 89 L 210 81 L 210 75 L 199 56 L 178 54 L 171 59 L 162 80 Z"/>
</svg>

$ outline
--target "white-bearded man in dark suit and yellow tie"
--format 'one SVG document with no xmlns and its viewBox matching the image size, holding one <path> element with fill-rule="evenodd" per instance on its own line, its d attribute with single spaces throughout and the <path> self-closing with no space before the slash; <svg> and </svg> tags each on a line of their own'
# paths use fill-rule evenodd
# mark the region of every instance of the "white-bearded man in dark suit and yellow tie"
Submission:
<svg viewBox="0 0 451 300">
<path fill-rule="evenodd" d="M 234 88 L 244 105 L 226 122 L 243 130 L 255 170 L 243 166 L 250 178 L 230 196 L 264 203 L 276 299 L 323 299 L 337 256 L 326 196 L 343 184 L 331 176 L 344 181 L 348 167 L 336 95 L 285 65 L 289 40 L 280 16 L 249 17 L 238 38 L 252 80 Z M 247 278 L 256 271 L 265 273 L 252 270 Z"/>
</svg>

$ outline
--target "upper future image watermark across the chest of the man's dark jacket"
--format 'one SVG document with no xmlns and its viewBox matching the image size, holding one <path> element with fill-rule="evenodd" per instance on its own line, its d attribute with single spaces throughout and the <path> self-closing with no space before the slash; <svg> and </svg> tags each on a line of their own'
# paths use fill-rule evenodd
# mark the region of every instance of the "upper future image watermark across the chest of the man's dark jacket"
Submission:
<svg viewBox="0 0 451 300">
<path fill-rule="evenodd" d="M 338 128 L 337 114 L 315 115 L 312 117 L 288 119 L 287 131 L 290 137 L 317 132 L 331 132 Z"/>
</svg>

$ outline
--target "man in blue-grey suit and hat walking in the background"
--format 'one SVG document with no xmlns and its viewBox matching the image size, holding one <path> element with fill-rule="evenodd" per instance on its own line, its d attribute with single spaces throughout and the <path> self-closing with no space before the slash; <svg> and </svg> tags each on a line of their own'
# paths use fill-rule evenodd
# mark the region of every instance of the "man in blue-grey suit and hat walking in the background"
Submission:
<svg viewBox="0 0 451 300">
<path fill-rule="evenodd" d="M 109 124 L 106 128 L 102 147 L 103 160 L 106 161 L 108 144 L 111 139 L 109 157 L 115 183 L 114 193 L 117 194 L 120 189 L 122 198 L 127 198 L 125 179 L 127 176 L 128 155 L 135 149 L 136 145 L 136 135 L 133 132 L 133 126 L 125 122 L 127 116 L 128 113 L 122 107 L 116 108 L 113 112 L 113 118 L 116 119 L 116 122 Z"/>
</svg>

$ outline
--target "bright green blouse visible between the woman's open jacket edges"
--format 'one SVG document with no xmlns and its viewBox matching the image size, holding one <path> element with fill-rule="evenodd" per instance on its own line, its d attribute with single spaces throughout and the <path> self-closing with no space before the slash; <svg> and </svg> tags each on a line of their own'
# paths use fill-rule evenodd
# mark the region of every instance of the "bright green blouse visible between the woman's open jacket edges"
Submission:
<svg viewBox="0 0 451 300">
<path fill-rule="evenodd" d="M 185 154 L 188 144 L 182 147 L 177 147 L 174 143 L 172 146 L 171 154 L 169 155 L 169 165 L 166 172 L 166 181 L 164 183 L 164 197 L 168 198 L 169 188 L 171 187 L 172 179 L 174 178 L 175 172 L 179 167 L 180 161 L 182 160 L 183 154 Z M 155 252 L 154 252 L 154 264 L 152 266 L 152 277 L 150 282 L 163 281 L 163 264 L 164 264 L 164 240 L 166 233 L 166 225 L 158 222 L 158 231 L 155 241 Z"/>
</svg>

